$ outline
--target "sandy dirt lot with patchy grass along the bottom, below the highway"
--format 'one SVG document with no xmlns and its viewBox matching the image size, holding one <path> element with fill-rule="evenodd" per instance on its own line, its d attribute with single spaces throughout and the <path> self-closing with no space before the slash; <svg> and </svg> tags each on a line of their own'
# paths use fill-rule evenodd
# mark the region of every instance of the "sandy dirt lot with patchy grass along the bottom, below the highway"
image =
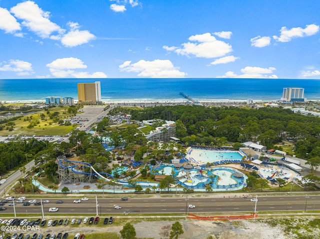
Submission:
<svg viewBox="0 0 320 239">
<path fill-rule="evenodd" d="M 117 219 L 115 219 L 117 220 Z M 197 220 L 177 220 L 183 227 L 184 234 L 181 239 L 205 239 L 212 235 L 216 239 L 291 239 L 286 237 L 279 227 L 270 227 L 267 224 L 256 222 L 254 220 L 240 220 L 240 221 L 220 221 L 208 222 Z M 138 223 L 132 222 L 136 231 L 137 238 L 154 238 L 163 239 L 168 238 L 171 225 L 175 221 L 142 221 Z M 123 223 L 124 225 L 124 223 Z M 103 225 L 100 220 L 99 226 L 87 225 L 81 223 L 79 226 L 55 226 L 40 228 L 40 231 L 29 232 L 40 234 L 58 234 L 59 232 L 68 233 L 69 238 L 73 238 L 76 233 L 88 235 L 95 232 L 114 232 L 119 233 L 122 229 L 121 225 Z M 16 233 L 16 232 L 12 232 Z M 24 233 L 26 235 L 27 233 Z"/>
</svg>

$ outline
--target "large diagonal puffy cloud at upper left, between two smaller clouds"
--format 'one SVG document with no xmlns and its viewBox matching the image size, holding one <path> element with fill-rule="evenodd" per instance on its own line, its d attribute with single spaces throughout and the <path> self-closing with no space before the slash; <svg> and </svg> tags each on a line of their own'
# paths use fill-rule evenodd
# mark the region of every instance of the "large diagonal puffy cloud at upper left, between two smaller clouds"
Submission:
<svg viewBox="0 0 320 239">
<path fill-rule="evenodd" d="M 15 17 L 22 19 L 22 25 L 41 38 L 49 37 L 52 32 L 62 34 L 64 30 L 49 20 L 48 11 L 43 11 L 33 1 L 24 1 L 11 7 L 10 11 Z"/>
</svg>

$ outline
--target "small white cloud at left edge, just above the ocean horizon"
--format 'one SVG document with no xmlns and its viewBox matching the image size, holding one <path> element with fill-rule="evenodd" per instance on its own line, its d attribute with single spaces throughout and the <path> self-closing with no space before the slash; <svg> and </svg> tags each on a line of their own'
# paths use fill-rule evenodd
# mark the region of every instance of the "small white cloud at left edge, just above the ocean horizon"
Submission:
<svg viewBox="0 0 320 239">
<path fill-rule="evenodd" d="M 13 71 L 18 75 L 29 75 L 33 73 L 32 64 L 23 60 L 9 60 L 0 62 L 0 71 Z"/>
</svg>

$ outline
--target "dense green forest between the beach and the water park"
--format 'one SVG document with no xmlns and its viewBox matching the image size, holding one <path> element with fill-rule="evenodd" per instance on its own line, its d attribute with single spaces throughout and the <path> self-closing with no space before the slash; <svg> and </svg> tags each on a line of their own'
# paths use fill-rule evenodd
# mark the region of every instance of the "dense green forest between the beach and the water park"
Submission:
<svg viewBox="0 0 320 239">
<path fill-rule="evenodd" d="M 295 144 L 302 158 L 320 157 L 320 118 L 293 113 L 290 109 L 261 107 L 205 107 L 191 105 L 114 108 L 131 119 L 162 119 L 176 122 L 176 136 L 186 144 L 223 145 L 259 141 L 268 149 L 283 139 Z"/>
</svg>

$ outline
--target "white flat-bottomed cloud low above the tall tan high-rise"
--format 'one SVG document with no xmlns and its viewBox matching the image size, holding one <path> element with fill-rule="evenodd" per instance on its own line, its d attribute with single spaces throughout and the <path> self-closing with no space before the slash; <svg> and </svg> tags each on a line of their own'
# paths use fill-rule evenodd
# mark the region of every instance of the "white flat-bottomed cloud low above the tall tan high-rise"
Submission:
<svg viewBox="0 0 320 239">
<path fill-rule="evenodd" d="M 74 57 L 59 58 L 46 64 L 50 73 L 58 78 L 106 78 L 103 72 L 88 73 L 86 71 L 75 71 L 74 69 L 85 69 L 87 66 L 82 60 Z"/>
</svg>

